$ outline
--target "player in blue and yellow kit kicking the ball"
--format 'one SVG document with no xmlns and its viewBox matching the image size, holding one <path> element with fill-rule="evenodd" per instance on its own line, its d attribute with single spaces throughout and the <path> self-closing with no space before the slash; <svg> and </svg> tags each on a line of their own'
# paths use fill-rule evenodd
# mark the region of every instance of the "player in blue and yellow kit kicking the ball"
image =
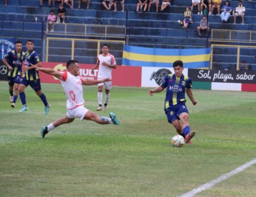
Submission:
<svg viewBox="0 0 256 197">
<path fill-rule="evenodd" d="M 162 84 L 158 88 L 151 89 L 148 95 L 152 96 L 153 93 L 162 92 L 166 88 L 164 111 L 166 112 L 168 122 L 174 125 L 176 131 L 185 138 L 186 143 L 191 144 L 191 139 L 196 133 L 190 131 L 188 124 L 189 113 L 185 105 L 185 92 L 193 105 L 196 105 L 197 101 L 193 97 L 191 90 L 191 78 L 184 76 L 182 73 L 184 70 L 183 62 L 178 60 L 173 65 L 175 74 L 167 75 Z"/>
</svg>

